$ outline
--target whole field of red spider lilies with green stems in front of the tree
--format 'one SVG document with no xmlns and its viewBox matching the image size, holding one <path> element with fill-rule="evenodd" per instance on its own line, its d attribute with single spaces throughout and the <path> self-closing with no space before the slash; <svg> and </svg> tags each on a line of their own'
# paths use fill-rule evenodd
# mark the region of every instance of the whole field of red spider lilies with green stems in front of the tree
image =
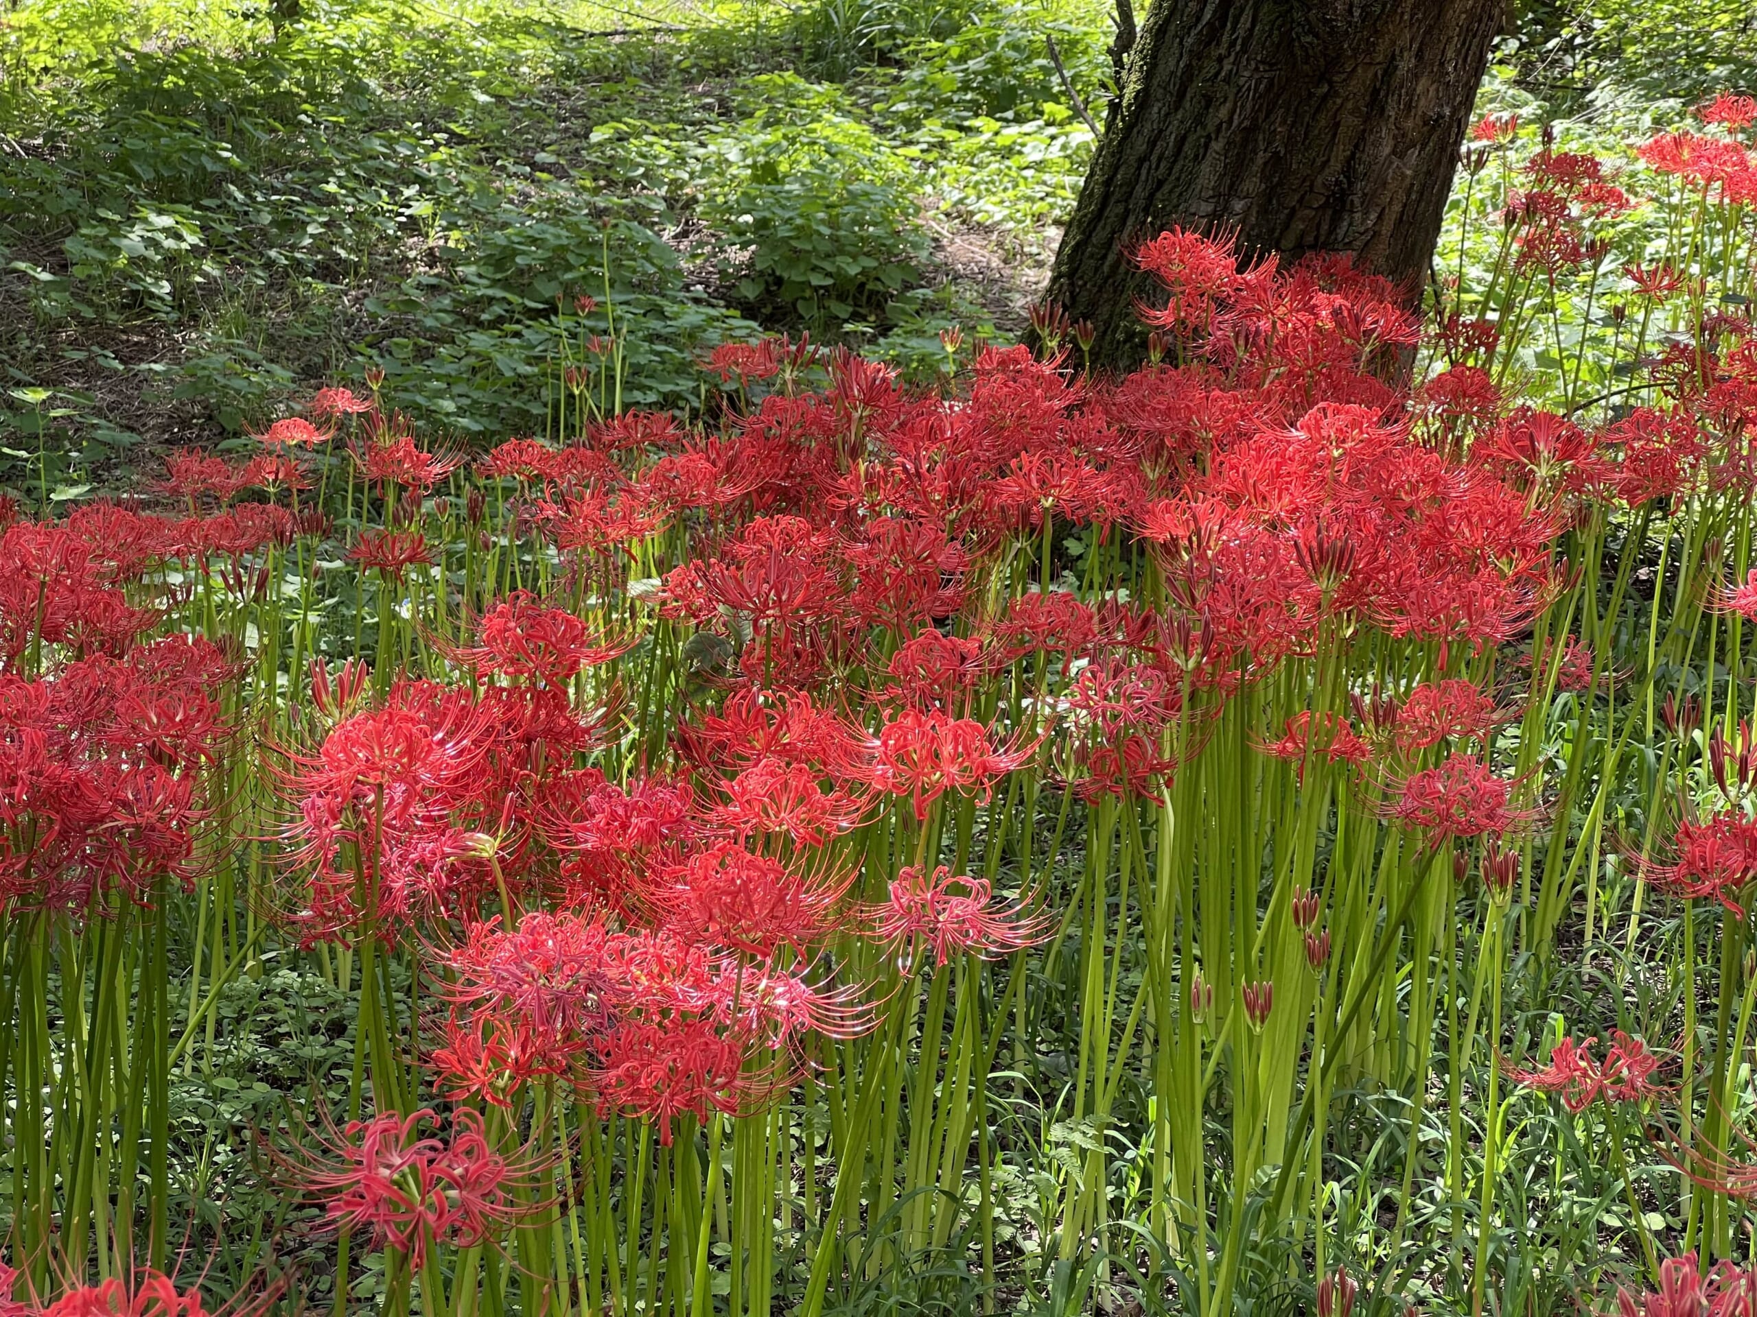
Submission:
<svg viewBox="0 0 1757 1317">
<path fill-rule="evenodd" d="M 1746 1312 L 1753 118 L 1485 121 L 1427 318 L 1168 232 L 1124 378 L 771 339 L 483 453 L 367 381 L 9 507 L 0 1308 L 1481 1312 L 1543 1155 L 1606 1305 Z M 320 1247 L 202 1294 L 269 948 L 355 1003 L 253 1134 Z"/>
</svg>

